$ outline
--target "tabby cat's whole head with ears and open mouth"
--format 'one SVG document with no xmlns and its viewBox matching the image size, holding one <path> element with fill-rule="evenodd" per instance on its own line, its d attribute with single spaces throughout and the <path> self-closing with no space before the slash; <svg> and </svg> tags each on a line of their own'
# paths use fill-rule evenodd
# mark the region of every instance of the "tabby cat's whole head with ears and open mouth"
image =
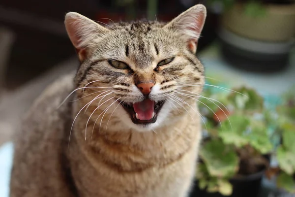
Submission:
<svg viewBox="0 0 295 197">
<path fill-rule="evenodd" d="M 78 13 L 66 14 L 66 30 L 81 61 L 77 97 L 90 119 L 104 117 L 108 127 L 147 131 L 196 110 L 204 67 L 195 53 L 205 18 L 201 4 L 165 24 L 101 26 Z"/>
</svg>

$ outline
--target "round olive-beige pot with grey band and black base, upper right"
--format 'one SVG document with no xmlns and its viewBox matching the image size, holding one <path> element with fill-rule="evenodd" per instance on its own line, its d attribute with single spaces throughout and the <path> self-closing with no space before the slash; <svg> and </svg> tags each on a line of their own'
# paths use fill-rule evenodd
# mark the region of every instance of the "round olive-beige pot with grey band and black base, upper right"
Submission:
<svg viewBox="0 0 295 197">
<path fill-rule="evenodd" d="M 277 71 L 288 63 L 295 36 L 295 0 L 209 0 L 223 7 L 219 36 L 232 66 Z"/>
</svg>

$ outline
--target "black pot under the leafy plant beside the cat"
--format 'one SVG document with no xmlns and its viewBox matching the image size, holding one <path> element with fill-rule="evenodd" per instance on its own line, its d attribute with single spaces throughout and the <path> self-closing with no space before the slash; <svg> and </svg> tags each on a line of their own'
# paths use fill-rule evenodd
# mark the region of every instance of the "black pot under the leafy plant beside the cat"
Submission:
<svg viewBox="0 0 295 197">
<path fill-rule="evenodd" d="M 261 189 L 261 181 L 264 170 L 242 178 L 230 180 L 233 185 L 233 194 L 229 197 L 257 197 Z M 198 181 L 195 181 L 190 197 L 224 197 L 220 193 L 208 193 L 199 189 Z"/>
</svg>

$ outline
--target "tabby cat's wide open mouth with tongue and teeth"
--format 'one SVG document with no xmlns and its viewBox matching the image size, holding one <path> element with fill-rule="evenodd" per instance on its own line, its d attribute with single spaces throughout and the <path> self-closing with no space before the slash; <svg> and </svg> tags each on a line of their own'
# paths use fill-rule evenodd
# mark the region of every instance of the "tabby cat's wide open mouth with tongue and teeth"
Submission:
<svg viewBox="0 0 295 197">
<path fill-rule="evenodd" d="M 164 100 L 155 102 L 151 99 L 145 99 L 141 102 L 133 104 L 124 103 L 121 105 L 129 113 L 134 124 L 148 124 L 156 122 L 164 103 Z"/>
</svg>

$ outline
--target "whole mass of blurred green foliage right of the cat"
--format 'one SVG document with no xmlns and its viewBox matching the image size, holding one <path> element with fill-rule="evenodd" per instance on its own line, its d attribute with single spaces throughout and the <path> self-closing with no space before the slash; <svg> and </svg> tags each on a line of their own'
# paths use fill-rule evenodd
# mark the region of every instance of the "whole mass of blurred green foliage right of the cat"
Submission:
<svg viewBox="0 0 295 197">
<path fill-rule="evenodd" d="M 268 167 L 265 155 L 273 154 L 278 166 L 269 167 L 266 175 L 277 175 L 277 186 L 295 193 L 295 86 L 270 110 L 253 89 L 230 90 L 211 79 L 207 83 L 199 99 L 207 129 L 196 176 L 199 187 L 229 196 L 231 178 Z"/>
</svg>

